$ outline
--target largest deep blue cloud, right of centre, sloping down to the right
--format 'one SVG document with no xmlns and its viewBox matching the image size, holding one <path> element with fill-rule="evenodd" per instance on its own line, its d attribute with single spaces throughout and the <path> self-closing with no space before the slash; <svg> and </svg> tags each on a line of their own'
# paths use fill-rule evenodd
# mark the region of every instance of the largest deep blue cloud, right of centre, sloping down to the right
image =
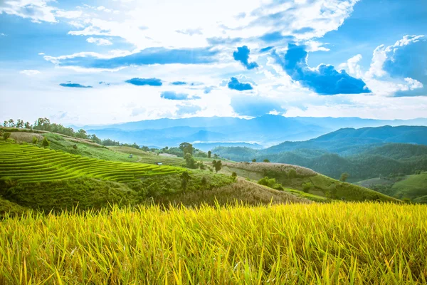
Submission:
<svg viewBox="0 0 427 285">
<path fill-rule="evenodd" d="M 290 43 L 285 55 L 273 53 L 275 60 L 289 76 L 320 95 L 370 93 L 366 83 L 349 76 L 344 70 L 337 71 L 334 66 L 320 64 L 310 68 L 305 46 Z"/>
</svg>

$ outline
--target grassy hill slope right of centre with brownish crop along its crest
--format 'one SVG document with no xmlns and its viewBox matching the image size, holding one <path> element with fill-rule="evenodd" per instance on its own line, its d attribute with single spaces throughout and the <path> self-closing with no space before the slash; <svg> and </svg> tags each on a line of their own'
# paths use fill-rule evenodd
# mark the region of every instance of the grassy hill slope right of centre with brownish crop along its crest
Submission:
<svg viewBox="0 0 427 285">
<path fill-rule="evenodd" d="M 248 177 L 251 180 L 259 180 L 268 176 L 275 178 L 283 187 L 293 190 L 303 190 L 303 184 L 311 182 L 314 187 L 309 190 L 309 194 L 318 197 L 330 196 L 334 199 L 345 199 L 347 201 L 381 200 L 397 202 L 398 200 L 379 192 L 369 190 L 364 187 L 352 185 L 346 182 L 334 180 L 325 175 L 320 175 L 312 170 L 295 165 L 283 165 L 283 169 L 275 170 L 278 164 L 257 162 L 253 164 L 246 163 L 226 163 L 224 171 L 236 172 L 238 175 Z M 287 175 L 289 169 L 295 169 L 297 177 L 290 179 Z M 310 197 L 307 197 L 310 199 Z M 322 199 L 322 198 L 320 198 Z"/>
</svg>

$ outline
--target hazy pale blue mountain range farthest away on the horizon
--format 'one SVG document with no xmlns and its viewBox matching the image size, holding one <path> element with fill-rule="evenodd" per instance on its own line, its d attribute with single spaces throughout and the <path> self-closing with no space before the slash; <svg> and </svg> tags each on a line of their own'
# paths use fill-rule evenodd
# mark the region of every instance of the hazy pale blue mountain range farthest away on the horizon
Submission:
<svg viewBox="0 0 427 285">
<path fill-rule="evenodd" d="M 344 127 L 379 125 L 427 125 L 427 119 L 371 120 L 263 115 L 250 120 L 228 117 L 164 118 L 116 125 L 85 126 L 83 129 L 102 139 L 136 142 L 138 145 L 172 147 L 181 142 L 254 142 L 270 146 L 283 141 L 310 140 Z"/>
</svg>

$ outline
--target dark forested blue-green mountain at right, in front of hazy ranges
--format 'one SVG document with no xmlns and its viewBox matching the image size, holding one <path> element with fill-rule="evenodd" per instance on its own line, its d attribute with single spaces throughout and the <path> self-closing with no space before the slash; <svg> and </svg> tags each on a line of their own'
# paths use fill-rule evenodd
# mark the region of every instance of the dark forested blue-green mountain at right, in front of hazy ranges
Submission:
<svg viewBox="0 0 427 285">
<path fill-rule="evenodd" d="M 427 127 L 346 128 L 305 142 L 283 142 L 265 150 L 217 147 L 213 152 L 236 161 L 255 158 L 300 165 L 334 178 L 348 172 L 351 180 L 358 181 L 427 170 Z"/>
</svg>

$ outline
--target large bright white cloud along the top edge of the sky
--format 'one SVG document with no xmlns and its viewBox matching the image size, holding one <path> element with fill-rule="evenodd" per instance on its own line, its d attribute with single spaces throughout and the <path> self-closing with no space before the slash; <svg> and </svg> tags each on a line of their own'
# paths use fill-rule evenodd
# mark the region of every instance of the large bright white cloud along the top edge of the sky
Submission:
<svg viewBox="0 0 427 285">
<path fill-rule="evenodd" d="M 87 19 L 85 24 L 88 26 L 70 31 L 70 34 L 119 36 L 140 49 L 154 46 L 202 47 L 208 45 L 206 38 L 214 37 L 246 38 L 257 47 L 258 37 L 275 31 L 293 35 L 301 41 L 322 37 L 342 25 L 357 1 L 331 0 L 325 3 L 313 0 L 310 3 L 277 4 L 273 0 L 167 0 L 162 5 L 155 1 L 147 2 L 143 7 L 139 1 L 130 1 L 121 6 L 124 10 L 120 15 L 93 16 Z M 88 7 L 95 11 L 110 10 L 104 6 Z M 246 16 L 236 17 L 241 14 Z M 141 26 L 146 28 L 139 28 Z M 179 32 L 194 31 L 194 27 L 198 27 L 194 33 Z M 307 32 L 297 32 L 301 28 L 306 28 Z M 321 43 L 309 41 L 308 44 L 317 50 L 327 51 Z"/>
</svg>

